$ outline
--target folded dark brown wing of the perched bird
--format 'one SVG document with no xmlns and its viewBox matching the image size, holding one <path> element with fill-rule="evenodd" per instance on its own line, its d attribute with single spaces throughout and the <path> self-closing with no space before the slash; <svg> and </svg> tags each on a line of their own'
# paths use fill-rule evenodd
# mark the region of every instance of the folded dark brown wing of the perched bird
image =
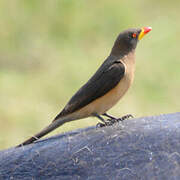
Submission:
<svg viewBox="0 0 180 180">
<path fill-rule="evenodd" d="M 103 68 L 99 68 L 94 76 L 70 99 L 65 108 L 56 116 L 55 120 L 73 113 L 105 95 L 123 78 L 125 66 L 121 61 L 114 61 L 111 64 L 105 63 L 102 66 Z"/>
</svg>

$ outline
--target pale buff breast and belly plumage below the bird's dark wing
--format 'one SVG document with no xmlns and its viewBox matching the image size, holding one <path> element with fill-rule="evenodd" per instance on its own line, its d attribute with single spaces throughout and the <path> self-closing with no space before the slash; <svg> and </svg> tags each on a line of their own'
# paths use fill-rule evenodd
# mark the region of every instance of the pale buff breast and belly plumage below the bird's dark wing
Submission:
<svg viewBox="0 0 180 180">
<path fill-rule="evenodd" d="M 84 117 L 93 115 L 95 113 L 103 114 L 110 108 L 112 108 L 127 92 L 134 79 L 135 54 L 131 53 L 122 58 L 120 61 L 125 66 L 125 74 L 118 85 L 111 89 L 104 96 L 96 99 L 86 107 L 82 108 L 79 111 L 79 114 L 81 114 L 82 116 L 84 114 Z"/>
</svg>

